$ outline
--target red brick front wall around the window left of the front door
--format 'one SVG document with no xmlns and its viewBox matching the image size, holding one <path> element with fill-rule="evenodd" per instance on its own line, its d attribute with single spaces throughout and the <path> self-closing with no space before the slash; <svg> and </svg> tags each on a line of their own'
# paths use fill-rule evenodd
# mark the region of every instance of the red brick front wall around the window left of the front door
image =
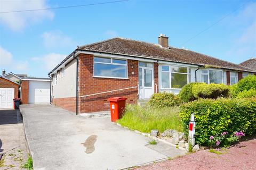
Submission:
<svg viewBox="0 0 256 170">
<path fill-rule="evenodd" d="M 93 78 L 93 55 L 79 55 L 78 93 L 79 96 L 99 92 L 118 90 L 138 86 L 138 61 L 128 60 L 129 79 Z M 132 72 L 134 74 L 132 74 Z M 109 97 L 126 97 L 126 103 L 135 104 L 138 99 L 138 88 L 116 91 L 107 94 L 79 98 L 79 113 L 98 112 L 109 110 Z"/>
</svg>

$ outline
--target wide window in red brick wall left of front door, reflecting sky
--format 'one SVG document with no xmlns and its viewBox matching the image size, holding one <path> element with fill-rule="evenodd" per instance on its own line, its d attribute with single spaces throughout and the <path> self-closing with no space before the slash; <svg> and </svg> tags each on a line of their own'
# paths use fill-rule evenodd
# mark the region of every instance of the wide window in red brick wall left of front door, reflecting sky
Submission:
<svg viewBox="0 0 256 170">
<path fill-rule="evenodd" d="M 93 76 L 100 78 L 127 79 L 127 60 L 94 56 Z"/>
</svg>

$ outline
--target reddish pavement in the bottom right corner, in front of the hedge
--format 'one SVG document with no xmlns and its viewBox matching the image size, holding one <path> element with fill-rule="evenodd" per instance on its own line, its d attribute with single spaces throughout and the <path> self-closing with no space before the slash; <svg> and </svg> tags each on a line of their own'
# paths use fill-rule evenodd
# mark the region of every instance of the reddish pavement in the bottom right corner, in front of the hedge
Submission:
<svg viewBox="0 0 256 170">
<path fill-rule="evenodd" d="M 209 150 L 201 150 L 183 157 L 141 166 L 135 169 L 256 169 L 256 139 L 238 143 L 220 150 L 218 155 Z"/>
</svg>

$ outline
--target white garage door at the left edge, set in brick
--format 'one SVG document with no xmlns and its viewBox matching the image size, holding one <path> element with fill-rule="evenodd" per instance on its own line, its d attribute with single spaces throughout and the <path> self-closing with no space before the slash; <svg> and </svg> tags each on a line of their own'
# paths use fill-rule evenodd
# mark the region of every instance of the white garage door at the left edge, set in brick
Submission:
<svg viewBox="0 0 256 170">
<path fill-rule="evenodd" d="M 0 88 L 0 108 L 13 108 L 14 89 Z"/>
</svg>

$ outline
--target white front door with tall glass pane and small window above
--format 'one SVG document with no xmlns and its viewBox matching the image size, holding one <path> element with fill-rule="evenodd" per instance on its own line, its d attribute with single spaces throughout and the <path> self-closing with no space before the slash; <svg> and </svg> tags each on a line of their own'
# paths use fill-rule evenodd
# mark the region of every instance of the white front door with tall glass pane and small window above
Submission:
<svg viewBox="0 0 256 170">
<path fill-rule="evenodd" d="M 154 94 L 153 63 L 139 63 L 139 99 L 149 99 Z"/>
</svg>

